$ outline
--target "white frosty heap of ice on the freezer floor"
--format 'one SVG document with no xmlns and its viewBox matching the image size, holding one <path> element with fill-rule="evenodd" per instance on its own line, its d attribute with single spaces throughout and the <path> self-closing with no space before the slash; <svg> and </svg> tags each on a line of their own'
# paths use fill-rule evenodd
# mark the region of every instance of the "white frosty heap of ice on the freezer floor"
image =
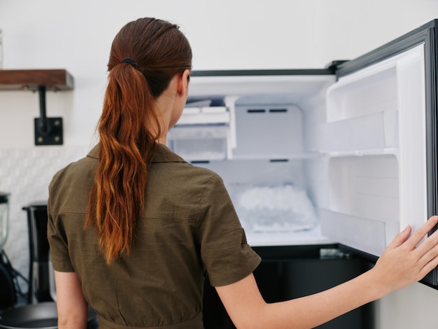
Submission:
<svg viewBox="0 0 438 329">
<path fill-rule="evenodd" d="M 311 230 L 318 225 L 306 192 L 292 185 L 248 186 L 236 198 L 241 221 L 255 232 Z"/>
</svg>

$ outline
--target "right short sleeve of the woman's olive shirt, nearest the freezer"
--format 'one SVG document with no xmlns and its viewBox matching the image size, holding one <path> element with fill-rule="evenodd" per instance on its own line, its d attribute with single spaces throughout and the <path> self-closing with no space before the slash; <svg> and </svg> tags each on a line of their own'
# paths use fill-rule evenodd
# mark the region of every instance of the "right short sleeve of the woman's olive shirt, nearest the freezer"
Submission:
<svg viewBox="0 0 438 329">
<path fill-rule="evenodd" d="M 212 286 L 225 286 L 248 276 L 261 258 L 246 241 L 232 200 L 217 174 L 202 194 L 197 221 L 201 258 Z"/>
</svg>

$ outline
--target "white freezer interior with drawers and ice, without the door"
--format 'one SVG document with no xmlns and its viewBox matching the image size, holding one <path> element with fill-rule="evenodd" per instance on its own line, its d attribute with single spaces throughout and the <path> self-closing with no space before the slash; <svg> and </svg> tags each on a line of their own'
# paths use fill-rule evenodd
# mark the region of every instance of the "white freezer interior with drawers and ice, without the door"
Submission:
<svg viewBox="0 0 438 329">
<path fill-rule="evenodd" d="M 190 107 L 168 146 L 222 177 L 252 246 L 332 242 L 320 233 L 306 161 L 321 160 L 316 123 L 325 120 L 325 90 L 333 82 L 332 75 L 190 81 Z M 229 120 L 213 122 L 208 99 L 222 99 Z"/>
</svg>

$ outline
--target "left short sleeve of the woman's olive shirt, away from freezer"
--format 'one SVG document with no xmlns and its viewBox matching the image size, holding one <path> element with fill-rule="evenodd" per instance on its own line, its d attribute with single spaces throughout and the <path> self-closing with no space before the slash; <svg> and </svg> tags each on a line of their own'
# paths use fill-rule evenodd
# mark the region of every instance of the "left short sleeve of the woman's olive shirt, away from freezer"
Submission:
<svg viewBox="0 0 438 329">
<path fill-rule="evenodd" d="M 52 214 L 52 198 L 53 189 L 55 187 L 51 183 L 49 187 L 48 200 L 48 223 L 47 237 L 50 248 L 50 261 L 52 262 L 55 271 L 59 272 L 74 272 L 73 265 L 69 256 L 68 242 L 64 232 L 64 226 L 57 214 Z"/>
</svg>

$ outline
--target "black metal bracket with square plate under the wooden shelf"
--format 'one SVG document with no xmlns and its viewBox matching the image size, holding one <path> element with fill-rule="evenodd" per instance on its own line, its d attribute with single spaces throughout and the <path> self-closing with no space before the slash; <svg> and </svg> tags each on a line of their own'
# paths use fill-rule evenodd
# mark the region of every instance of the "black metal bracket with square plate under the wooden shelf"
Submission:
<svg viewBox="0 0 438 329">
<path fill-rule="evenodd" d="M 35 145 L 62 145 L 62 118 L 48 118 L 45 111 L 45 85 L 38 86 L 40 117 L 34 119 Z"/>
</svg>

